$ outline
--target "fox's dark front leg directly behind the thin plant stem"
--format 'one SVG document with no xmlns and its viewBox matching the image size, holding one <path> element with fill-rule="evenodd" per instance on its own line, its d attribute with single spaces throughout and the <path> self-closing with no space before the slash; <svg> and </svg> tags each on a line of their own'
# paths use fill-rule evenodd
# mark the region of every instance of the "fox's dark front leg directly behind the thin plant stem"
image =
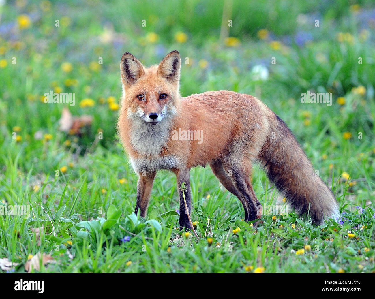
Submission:
<svg viewBox="0 0 375 299">
<path fill-rule="evenodd" d="M 176 178 L 177 178 L 177 190 L 178 190 L 178 196 L 180 197 L 180 220 L 178 221 L 178 224 L 180 224 L 180 230 L 191 229 L 189 218 L 187 214 L 190 215 L 190 179 L 189 179 L 189 168 L 186 169 L 179 169 L 175 170 Z M 184 190 L 181 191 L 181 185 L 184 184 Z M 184 194 L 183 194 L 184 193 Z M 186 200 L 186 206 L 184 201 L 184 195 Z"/>
</svg>

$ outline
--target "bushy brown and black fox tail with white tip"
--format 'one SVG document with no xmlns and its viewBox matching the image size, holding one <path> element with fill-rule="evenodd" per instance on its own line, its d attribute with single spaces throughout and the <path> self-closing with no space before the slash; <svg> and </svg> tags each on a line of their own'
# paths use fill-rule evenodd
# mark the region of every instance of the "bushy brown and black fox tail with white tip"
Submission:
<svg viewBox="0 0 375 299">
<path fill-rule="evenodd" d="M 269 179 L 297 212 L 309 212 L 317 224 L 339 217 L 338 203 L 331 189 L 314 173 L 293 133 L 276 115 L 270 120 L 270 135 L 259 159 Z"/>
</svg>

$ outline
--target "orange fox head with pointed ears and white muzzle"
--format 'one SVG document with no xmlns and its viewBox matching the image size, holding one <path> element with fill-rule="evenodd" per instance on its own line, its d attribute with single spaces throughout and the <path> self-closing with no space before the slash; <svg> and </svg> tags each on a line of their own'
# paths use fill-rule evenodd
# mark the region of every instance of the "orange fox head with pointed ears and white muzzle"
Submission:
<svg viewBox="0 0 375 299">
<path fill-rule="evenodd" d="M 158 66 L 145 68 L 132 54 L 122 55 L 120 70 L 123 107 L 129 119 L 157 125 L 176 114 L 180 101 L 181 59 L 178 51 L 164 57 Z"/>
</svg>

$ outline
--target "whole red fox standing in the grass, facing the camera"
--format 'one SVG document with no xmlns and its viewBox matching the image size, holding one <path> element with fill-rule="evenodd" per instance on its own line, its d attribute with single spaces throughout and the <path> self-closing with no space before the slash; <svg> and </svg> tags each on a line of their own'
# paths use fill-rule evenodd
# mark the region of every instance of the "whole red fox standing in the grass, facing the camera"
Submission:
<svg viewBox="0 0 375 299">
<path fill-rule="evenodd" d="M 259 162 L 297 212 L 318 224 L 339 216 L 332 191 L 315 175 L 284 121 L 248 94 L 220 90 L 180 97 L 180 67 L 178 51 L 149 68 L 128 52 L 121 58 L 123 97 L 117 127 L 139 176 L 136 214 L 146 214 L 156 170 L 168 169 L 177 177 L 180 229 L 191 229 L 189 170 L 209 164 L 241 201 L 244 220 L 258 220 L 262 206 L 250 176 L 252 163 Z M 183 182 L 189 211 L 180 190 Z"/>
</svg>

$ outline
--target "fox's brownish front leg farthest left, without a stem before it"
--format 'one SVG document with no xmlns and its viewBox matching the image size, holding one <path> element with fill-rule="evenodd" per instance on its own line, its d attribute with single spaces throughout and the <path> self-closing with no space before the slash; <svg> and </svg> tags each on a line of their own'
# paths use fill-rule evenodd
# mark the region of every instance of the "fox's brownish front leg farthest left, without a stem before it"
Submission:
<svg viewBox="0 0 375 299">
<path fill-rule="evenodd" d="M 138 213 L 138 209 L 141 210 L 141 216 L 145 217 L 148 200 L 150 200 L 150 194 L 152 185 L 154 184 L 156 172 L 142 172 L 138 173 L 139 179 L 137 184 L 137 202 L 135 205 L 135 214 Z"/>
</svg>

